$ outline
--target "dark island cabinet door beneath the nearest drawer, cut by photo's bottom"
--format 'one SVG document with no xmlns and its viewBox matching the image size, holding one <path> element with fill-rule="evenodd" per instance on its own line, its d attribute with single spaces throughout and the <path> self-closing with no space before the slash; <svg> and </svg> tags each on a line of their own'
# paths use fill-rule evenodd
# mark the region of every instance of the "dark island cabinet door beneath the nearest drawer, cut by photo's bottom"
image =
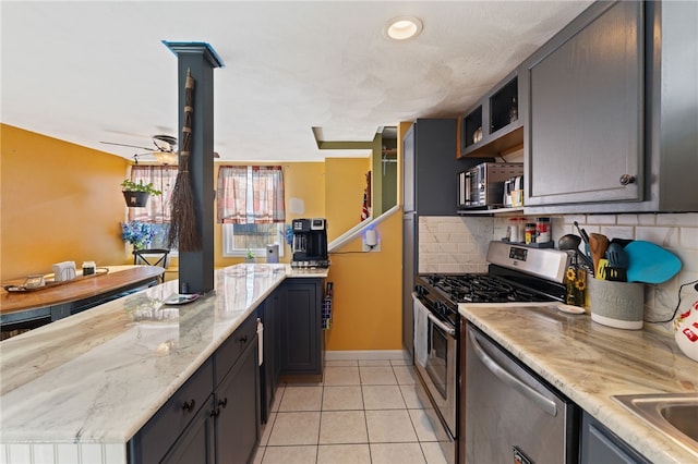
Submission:
<svg viewBox="0 0 698 464">
<path fill-rule="evenodd" d="M 165 455 L 164 464 L 213 464 L 214 461 L 214 418 L 210 415 L 213 396 L 189 424 L 184 432 Z"/>
</svg>

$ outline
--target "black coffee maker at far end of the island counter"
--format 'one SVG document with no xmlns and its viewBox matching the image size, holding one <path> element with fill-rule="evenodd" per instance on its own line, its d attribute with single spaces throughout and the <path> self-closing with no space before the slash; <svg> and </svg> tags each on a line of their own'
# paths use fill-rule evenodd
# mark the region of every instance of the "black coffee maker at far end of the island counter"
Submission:
<svg viewBox="0 0 698 464">
<path fill-rule="evenodd" d="M 323 218 L 293 219 L 292 268 L 328 268 L 327 222 Z"/>
</svg>

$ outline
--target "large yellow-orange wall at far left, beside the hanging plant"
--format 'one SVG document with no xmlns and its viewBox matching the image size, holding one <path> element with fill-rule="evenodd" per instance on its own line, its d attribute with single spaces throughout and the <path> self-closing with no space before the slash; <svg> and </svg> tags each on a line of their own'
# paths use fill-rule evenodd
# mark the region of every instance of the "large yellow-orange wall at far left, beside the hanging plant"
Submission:
<svg viewBox="0 0 698 464">
<path fill-rule="evenodd" d="M 128 160 L 0 124 L 0 281 L 55 262 L 125 264 Z"/>
</svg>

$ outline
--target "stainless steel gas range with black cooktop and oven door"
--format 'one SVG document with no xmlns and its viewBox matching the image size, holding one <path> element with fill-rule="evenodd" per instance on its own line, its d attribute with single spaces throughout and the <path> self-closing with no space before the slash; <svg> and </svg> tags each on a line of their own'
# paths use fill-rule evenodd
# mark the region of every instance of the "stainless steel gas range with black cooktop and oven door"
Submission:
<svg viewBox="0 0 698 464">
<path fill-rule="evenodd" d="M 448 462 L 458 462 L 460 316 L 458 304 L 520 305 L 564 302 L 569 257 L 550 248 L 491 242 L 488 273 L 418 274 L 414 308 L 414 366 L 420 398 Z M 419 389 L 418 389 L 419 391 Z"/>
</svg>

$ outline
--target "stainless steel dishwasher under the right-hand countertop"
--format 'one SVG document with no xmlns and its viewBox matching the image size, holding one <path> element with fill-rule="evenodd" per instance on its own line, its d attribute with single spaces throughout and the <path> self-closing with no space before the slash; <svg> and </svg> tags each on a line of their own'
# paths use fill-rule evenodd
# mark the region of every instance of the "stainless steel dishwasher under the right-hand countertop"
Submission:
<svg viewBox="0 0 698 464">
<path fill-rule="evenodd" d="M 578 406 L 470 323 L 466 339 L 466 463 L 576 463 Z"/>
</svg>

